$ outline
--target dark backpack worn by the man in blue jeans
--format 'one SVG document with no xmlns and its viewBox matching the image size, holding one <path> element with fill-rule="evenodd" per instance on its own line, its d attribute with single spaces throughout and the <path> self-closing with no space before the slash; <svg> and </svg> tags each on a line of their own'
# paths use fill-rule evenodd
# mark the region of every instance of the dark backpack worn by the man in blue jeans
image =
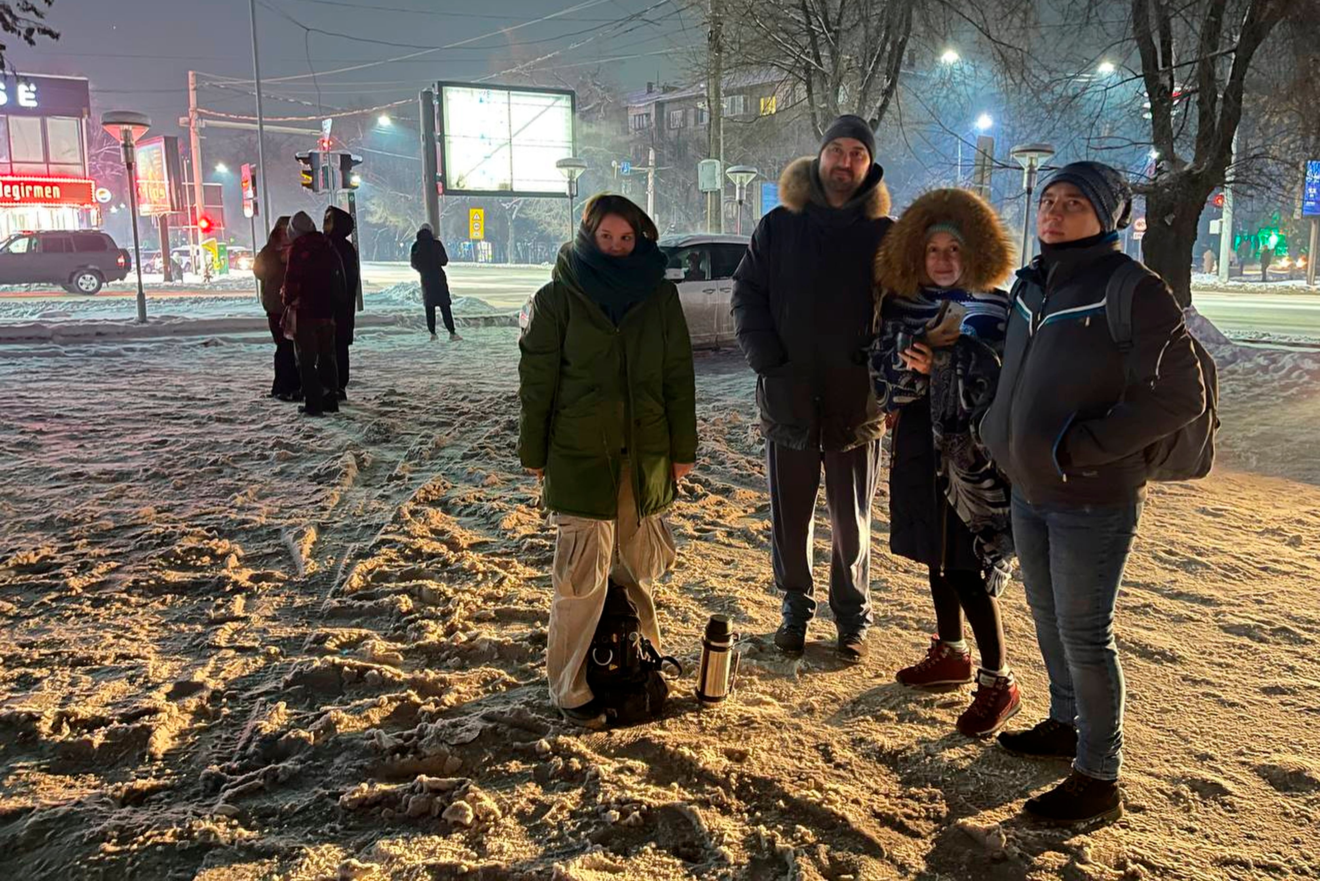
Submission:
<svg viewBox="0 0 1320 881">
<path fill-rule="evenodd" d="M 1105 287 L 1105 318 L 1109 335 L 1123 354 L 1127 383 L 1137 384 L 1143 378 L 1131 363 L 1133 300 L 1137 287 L 1152 273 L 1138 260 L 1125 262 Z M 1146 448 L 1146 477 L 1152 481 L 1196 481 L 1210 473 L 1214 464 L 1214 435 L 1220 429 L 1220 380 L 1214 358 L 1201 342 L 1192 337 L 1192 347 L 1201 362 L 1205 380 L 1205 409 L 1200 416 L 1172 435 Z M 1158 370 L 1158 366 L 1156 366 Z M 1159 372 L 1151 383 L 1159 382 Z"/>
</svg>

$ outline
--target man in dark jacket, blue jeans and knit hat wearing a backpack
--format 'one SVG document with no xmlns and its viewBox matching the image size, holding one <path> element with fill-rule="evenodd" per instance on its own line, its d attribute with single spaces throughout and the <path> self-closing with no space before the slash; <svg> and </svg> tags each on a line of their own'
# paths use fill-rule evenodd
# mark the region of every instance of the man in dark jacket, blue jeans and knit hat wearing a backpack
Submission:
<svg viewBox="0 0 1320 881">
<path fill-rule="evenodd" d="M 1018 272 L 981 424 L 1012 482 L 1014 542 L 1049 675 L 1049 716 L 999 744 L 1072 761 L 1067 781 L 1026 804 L 1055 824 L 1122 814 L 1118 585 L 1147 481 L 1204 476 L 1217 427 L 1213 362 L 1164 281 L 1122 254 L 1130 219 L 1131 189 L 1107 165 L 1073 162 L 1045 182 L 1040 256 Z"/>
</svg>

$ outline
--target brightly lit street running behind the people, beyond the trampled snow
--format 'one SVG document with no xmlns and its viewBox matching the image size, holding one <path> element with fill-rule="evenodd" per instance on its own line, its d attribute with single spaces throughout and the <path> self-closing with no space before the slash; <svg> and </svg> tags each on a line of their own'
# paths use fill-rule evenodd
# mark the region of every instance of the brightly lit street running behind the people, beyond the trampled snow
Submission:
<svg viewBox="0 0 1320 881">
<path fill-rule="evenodd" d="M 449 287 L 454 296 L 484 300 L 500 310 L 515 310 L 527 297 L 549 280 L 549 267 L 502 267 L 453 263 L 449 265 Z M 362 267 L 367 289 L 367 308 L 371 308 L 371 292 L 381 288 L 416 281 L 417 273 L 407 263 L 364 263 Z M 170 297 L 248 297 L 246 291 L 206 291 L 202 288 L 173 288 L 150 291 L 152 300 Z M 54 289 L 50 292 L 0 292 L 0 301 L 33 301 L 59 309 L 63 304 L 78 300 L 104 301 L 115 297 L 132 297 L 135 292 L 125 285 L 107 288 L 96 297 L 66 295 Z M 1199 292 L 1193 295 L 1201 314 L 1213 321 L 1221 330 L 1230 334 L 1283 334 L 1290 337 L 1312 337 L 1320 339 L 1320 293 L 1254 293 L 1254 292 Z M 3 312 L 3 309 L 0 309 Z"/>
</svg>

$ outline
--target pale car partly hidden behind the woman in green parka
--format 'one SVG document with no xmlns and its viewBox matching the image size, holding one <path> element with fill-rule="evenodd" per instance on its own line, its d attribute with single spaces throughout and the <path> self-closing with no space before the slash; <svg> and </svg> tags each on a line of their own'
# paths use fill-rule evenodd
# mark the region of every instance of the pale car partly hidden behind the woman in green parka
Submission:
<svg viewBox="0 0 1320 881">
<path fill-rule="evenodd" d="M 669 258 L 665 277 L 678 288 L 678 301 L 688 320 L 693 347 L 735 345 L 733 276 L 750 240 L 746 235 L 714 232 L 668 235 L 660 239 L 660 250 Z M 531 320 L 529 296 L 517 314 L 517 326 L 525 330 Z"/>
</svg>

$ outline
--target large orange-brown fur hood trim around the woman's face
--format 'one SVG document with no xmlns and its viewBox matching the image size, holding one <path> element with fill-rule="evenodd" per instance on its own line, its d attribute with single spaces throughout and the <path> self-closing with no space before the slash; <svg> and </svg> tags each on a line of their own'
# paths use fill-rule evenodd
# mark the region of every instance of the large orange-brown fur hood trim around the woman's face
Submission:
<svg viewBox="0 0 1320 881">
<path fill-rule="evenodd" d="M 876 291 L 900 297 L 915 297 L 921 291 L 925 234 L 936 223 L 950 223 L 962 234 L 960 288 L 993 291 L 1008 280 L 1016 264 L 1008 230 L 983 198 L 950 188 L 919 197 L 890 229 L 875 254 Z"/>
</svg>

